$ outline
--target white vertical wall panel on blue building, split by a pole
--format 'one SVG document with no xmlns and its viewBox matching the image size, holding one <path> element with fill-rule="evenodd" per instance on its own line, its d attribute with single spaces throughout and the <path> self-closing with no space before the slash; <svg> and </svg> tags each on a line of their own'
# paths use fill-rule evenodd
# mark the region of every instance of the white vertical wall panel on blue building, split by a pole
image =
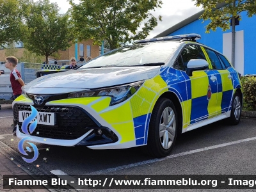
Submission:
<svg viewBox="0 0 256 192">
<path fill-rule="evenodd" d="M 223 33 L 223 54 L 231 62 L 231 35 L 232 33 Z M 244 31 L 236 31 L 235 45 L 235 65 L 236 70 L 244 75 Z"/>
</svg>

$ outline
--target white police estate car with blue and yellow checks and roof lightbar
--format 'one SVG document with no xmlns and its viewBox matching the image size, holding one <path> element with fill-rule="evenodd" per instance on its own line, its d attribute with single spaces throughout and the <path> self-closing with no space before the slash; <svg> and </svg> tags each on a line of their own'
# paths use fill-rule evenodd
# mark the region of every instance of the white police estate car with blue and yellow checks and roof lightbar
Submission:
<svg viewBox="0 0 256 192">
<path fill-rule="evenodd" d="M 168 156 L 177 134 L 240 121 L 239 73 L 197 34 L 138 40 L 77 70 L 39 77 L 13 102 L 17 137 L 36 109 L 32 141 Z"/>
</svg>

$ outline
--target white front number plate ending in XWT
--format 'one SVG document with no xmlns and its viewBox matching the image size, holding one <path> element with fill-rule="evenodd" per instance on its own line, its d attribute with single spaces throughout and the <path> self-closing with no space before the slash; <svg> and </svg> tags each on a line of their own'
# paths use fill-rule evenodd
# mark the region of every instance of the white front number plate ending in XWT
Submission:
<svg viewBox="0 0 256 192">
<path fill-rule="evenodd" d="M 19 111 L 19 122 L 24 120 L 31 114 L 31 111 Z M 54 113 L 38 112 L 37 124 L 41 125 L 54 125 Z"/>
</svg>

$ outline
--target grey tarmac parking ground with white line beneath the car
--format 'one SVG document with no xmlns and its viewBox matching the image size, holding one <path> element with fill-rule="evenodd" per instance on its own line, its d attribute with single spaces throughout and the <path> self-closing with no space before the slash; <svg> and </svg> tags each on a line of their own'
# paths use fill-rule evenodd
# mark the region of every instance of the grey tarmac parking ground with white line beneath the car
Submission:
<svg viewBox="0 0 256 192">
<path fill-rule="evenodd" d="M 40 152 L 35 163 L 24 163 L 17 149 L 18 138 L 12 136 L 12 109 L 0 111 L 0 148 L 8 161 L 22 164 L 26 172 L 67 175 L 256 175 L 256 119 L 242 118 L 239 125 L 223 121 L 182 134 L 170 156 L 162 159 L 141 154 L 139 148 L 124 150 L 90 150 L 84 147 L 60 147 L 36 143 Z M 47 148 L 49 150 L 47 150 Z M 44 161 L 43 158 L 47 158 Z M 23 162 L 23 163 L 22 163 Z M 40 164 L 36 168 L 36 164 Z M 16 167 L 17 168 L 17 167 Z M 214 191 L 252 191 L 253 189 L 214 189 Z M 94 190 L 97 191 L 97 190 Z M 110 191 L 110 190 L 109 190 Z M 111 191 L 120 191 L 113 190 Z M 121 190 L 123 191 L 123 190 Z M 140 189 L 128 191 L 170 191 Z M 213 191 L 180 189 L 173 191 Z"/>
</svg>

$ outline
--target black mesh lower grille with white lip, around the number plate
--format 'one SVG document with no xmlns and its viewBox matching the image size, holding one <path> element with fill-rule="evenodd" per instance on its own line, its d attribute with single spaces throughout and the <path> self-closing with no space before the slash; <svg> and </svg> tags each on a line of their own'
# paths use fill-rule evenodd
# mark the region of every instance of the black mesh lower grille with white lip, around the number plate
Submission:
<svg viewBox="0 0 256 192">
<path fill-rule="evenodd" d="M 35 131 L 30 133 L 33 141 L 51 145 L 100 145 L 118 141 L 116 134 L 102 125 L 77 106 L 44 106 L 36 107 L 38 112 L 54 113 L 54 125 L 37 124 Z M 13 116 L 17 124 L 17 137 L 28 135 L 22 132 L 22 123 L 19 122 L 19 111 L 31 111 L 29 104 L 14 104 Z M 100 132 L 100 134 L 99 134 Z"/>
</svg>

